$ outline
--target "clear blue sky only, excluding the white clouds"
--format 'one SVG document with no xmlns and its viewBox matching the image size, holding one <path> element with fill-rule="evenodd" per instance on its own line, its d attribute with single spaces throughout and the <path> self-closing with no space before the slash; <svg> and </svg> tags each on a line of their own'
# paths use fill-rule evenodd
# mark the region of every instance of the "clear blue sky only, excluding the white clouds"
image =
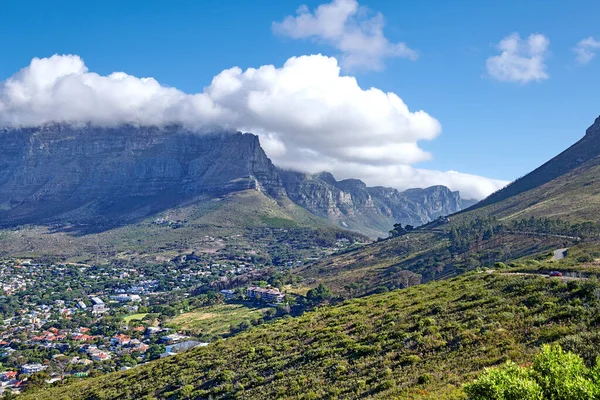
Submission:
<svg viewBox="0 0 600 400">
<path fill-rule="evenodd" d="M 234 66 L 281 67 L 294 56 L 340 56 L 327 40 L 273 30 L 273 22 L 294 16 L 300 5 L 312 12 L 323 3 L 8 0 L 0 13 L 0 80 L 33 57 L 77 54 L 100 75 L 124 71 L 202 92 Z M 416 60 L 385 58 L 378 70 L 342 69 L 363 89 L 394 92 L 411 111 L 424 110 L 440 122 L 438 137 L 419 141 L 433 158 L 413 167 L 512 180 L 578 140 L 600 114 L 600 56 L 583 65 L 573 51 L 582 39 L 600 40 L 596 1 L 363 0 L 360 6 L 383 15 L 390 43 L 403 42 L 418 53 Z M 498 43 L 513 33 L 549 40 L 547 78 L 523 83 L 490 75 L 486 60 L 500 54 Z"/>
</svg>

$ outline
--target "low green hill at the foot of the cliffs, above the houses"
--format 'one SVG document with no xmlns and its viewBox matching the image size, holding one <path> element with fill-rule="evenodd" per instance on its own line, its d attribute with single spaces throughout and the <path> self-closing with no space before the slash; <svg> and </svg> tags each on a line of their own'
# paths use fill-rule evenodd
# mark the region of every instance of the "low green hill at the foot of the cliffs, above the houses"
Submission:
<svg viewBox="0 0 600 400">
<path fill-rule="evenodd" d="M 333 247 L 337 239 L 368 240 L 329 225 L 289 200 L 278 202 L 257 190 L 195 198 L 101 232 L 82 234 L 79 229 L 69 224 L 5 229 L 0 232 L 0 255 L 84 263 L 160 263 L 191 252 L 246 253 L 270 259 L 283 251 L 296 260 L 314 257 L 311 247 Z"/>
</svg>

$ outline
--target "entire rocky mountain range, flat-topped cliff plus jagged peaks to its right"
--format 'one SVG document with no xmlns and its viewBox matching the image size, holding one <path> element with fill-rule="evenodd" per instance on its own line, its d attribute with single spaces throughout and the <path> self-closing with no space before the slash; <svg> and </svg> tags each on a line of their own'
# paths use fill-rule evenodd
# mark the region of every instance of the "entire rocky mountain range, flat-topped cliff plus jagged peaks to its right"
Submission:
<svg viewBox="0 0 600 400">
<path fill-rule="evenodd" d="M 291 199 L 371 237 L 396 222 L 421 225 L 473 204 L 444 186 L 399 192 L 329 173 L 284 171 L 248 133 L 69 125 L 0 130 L 2 226 L 68 222 L 110 229 L 199 197 L 244 190 Z"/>
</svg>

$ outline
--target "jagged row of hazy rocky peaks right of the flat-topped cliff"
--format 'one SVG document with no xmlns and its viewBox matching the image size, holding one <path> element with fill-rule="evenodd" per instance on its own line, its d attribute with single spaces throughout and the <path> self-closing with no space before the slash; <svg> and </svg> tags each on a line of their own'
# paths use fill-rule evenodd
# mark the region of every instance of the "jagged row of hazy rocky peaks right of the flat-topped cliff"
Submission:
<svg viewBox="0 0 600 400">
<path fill-rule="evenodd" d="M 395 223 L 419 226 L 473 204 L 445 186 L 399 192 L 367 187 L 358 179 L 337 181 L 327 172 L 279 170 L 283 187 L 296 204 L 335 225 L 369 236 L 387 236 Z"/>
</svg>

